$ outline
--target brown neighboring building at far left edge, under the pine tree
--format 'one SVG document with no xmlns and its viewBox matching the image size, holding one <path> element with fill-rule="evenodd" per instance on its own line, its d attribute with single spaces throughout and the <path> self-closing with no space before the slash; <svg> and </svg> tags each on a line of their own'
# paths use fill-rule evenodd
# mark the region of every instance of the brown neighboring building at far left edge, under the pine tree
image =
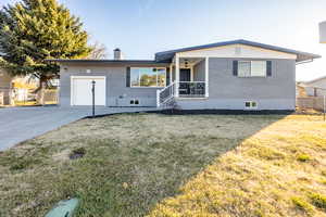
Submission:
<svg viewBox="0 0 326 217">
<path fill-rule="evenodd" d="M 10 93 L 13 78 L 0 68 L 0 105 L 10 104 Z"/>
</svg>

